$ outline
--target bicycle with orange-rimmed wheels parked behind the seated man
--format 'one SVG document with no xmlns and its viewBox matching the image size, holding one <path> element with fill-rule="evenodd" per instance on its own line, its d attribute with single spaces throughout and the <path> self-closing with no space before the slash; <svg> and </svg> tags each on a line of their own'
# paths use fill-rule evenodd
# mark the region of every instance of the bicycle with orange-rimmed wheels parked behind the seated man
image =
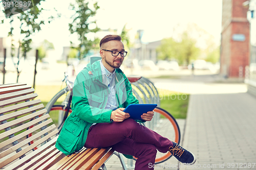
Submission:
<svg viewBox="0 0 256 170">
<path fill-rule="evenodd" d="M 136 96 L 136 98 L 139 100 L 139 103 L 152 102 L 152 103 L 158 103 L 159 105 L 158 92 L 152 82 L 150 82 L 148 79 L 145 79 L 143 77 L 129 77 L 128 79 L 133 86 L 133 93 Z M 65 72 L 65 79 L 63 81 L 66 82 L 67 87 L 63 88 L 57 94 L 55 94 L 54 97 L 46 106 L 47 113 L 50 114 L 53 120 L 55 119 L 54 124 L 58 128 L 59 132 L 66 118 L 72 112 L 71 100 L 72 100 L 73 82 L 71 82 L 68 79 L 66 72 Z M 142 83 L 147 84 L 147 86 L 142 85 Z M 140 93 L 143 96 L 145 96 L 144 99 L 140 96 L 141 94 L 139 94 L 139 90 L 140 90 Z M 61 101 L 61 104 L 59 104 L 60 102 L 58 102 L 58 100 L 63 95 L 65 96 L 65 100 Z M 143 126 L 146 126 L 156 131 L 160 135 L 165 136 L 169 139 L 174 139 L 174 141 L 179 144 L 180 129 L 175 118 L 172 116 L 172 114 L 168 113 L 166 110 L 160 107 L 156 107 L 154 111 L 155 111 L 154 118 L 151 120 L 151 122 L 144 123 Z M 56 121 L 56 115 L 58 115 L 58 122 Z M 29 128 L 32 128 L 32 127 L 29 127 Z M 172 157 L 172 154 L 170 153 L 163 154 L 163 153 L 157 152 L 155 164 L 164 162 L 170 157 Z M 136 160 L 137 158 L 134 157 L 134 159 Z"/>
</svg>

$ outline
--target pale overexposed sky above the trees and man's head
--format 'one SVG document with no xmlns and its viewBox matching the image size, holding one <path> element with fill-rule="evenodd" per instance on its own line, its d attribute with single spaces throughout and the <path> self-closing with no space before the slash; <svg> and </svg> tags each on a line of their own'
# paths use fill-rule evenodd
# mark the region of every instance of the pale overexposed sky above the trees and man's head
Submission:
<svg viewBox="0 0 256 170">
<path fill-rule="evenodd" d="M 0 0 L 1 1 L 1 0 Z M 95 2 L 95 0 L 89 0 Z M 42 3 L 45 8 L 55 7 L 62 16 L 41 27 L 41 31 L 33 37 L 33 42 L 39 43 L 44 39 L 54 43 L 55 48 L 69 46 L 70 40 L 76 37 L 70 35 L 68 23 L 72 12 L 68 10 L 72 1 L 46 0 Z M 196 23 L 200 28 L 214 36 L 216 44 L 221 39 L 222 0 L 98 0 L 100 9 L 94 17 L 100 29 L 117 29 L 120 34 L 126 24 L 129 35 L 133 39 L 137 30 L 144 30 L 143 42 L 152 42 L 173 35 L 173 28 L 183 29 L 188 23 Z M 54 13 L 54 12 L 52 12 Z M 45 18 L 51 14 L 47 11 Z M 0 13 L 0 19 L 4 17 Z M 0 25 L 0 37 L 7 35 L 8 26 Z M 102 38 L 108 32 L 97 35 Z"/>
</svg>

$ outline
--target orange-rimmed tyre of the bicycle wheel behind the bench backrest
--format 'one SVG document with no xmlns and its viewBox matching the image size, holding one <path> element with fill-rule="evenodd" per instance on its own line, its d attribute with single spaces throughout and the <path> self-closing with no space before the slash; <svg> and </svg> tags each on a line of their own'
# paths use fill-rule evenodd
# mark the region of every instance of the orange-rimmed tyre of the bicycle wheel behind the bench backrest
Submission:
<svg viewBox="0 0 256 170">
<path fill-rule="evenodd" d="M 64 105 L 54 105 L 54 106 L 52 106 L 52 108 L 50 109 L 50 111 L 49 111 L 48 113 L 49 113 L 49 115 L 51 115 L 51 112 L 52 112 L 52 111 L 67 111 L 67 108 L 66 108 L 66 109 L 64 109 L 64 108 L 65 108 Z M 71 112 L 72 112 L 72 110 L 69 109 L 69 112 L 68 112 L 68 113 L 71 113 Z M 65 113 L 66 113 L 66 112 L 65 112 Z M 41 115 L 42 115 L 42 114 L 41 114 Z M 39 117 L 40 117 L 41 115 L 39 115 Z M 65 116 L 65 115 L 64 115 L 64 116 Z M 33 119 L 34 119 L 34 118 L 30 119 L 30 121 L 33 120 Z M 57 129 L 58 129 L 59 132 L 60 132 L 62 126 L 63 126 L 64 120 L 65 120 L 65 119 L 62 119 L 62 120 L 61 120 L 61 124 L 60 124 L 60 125 L 57 125 L 57 123 L 55 123 L 55 126 L 57 127 Z M 53 123 L 54 123 L 54 122 L 53 122 Z M 51 124 L 50 124 L 50 125 L 51 125 Z M 28 127 L 27 130 L 29 130 L 29 129 L 33 128 L 33 127 L 34 127 L 34 125 Z M 32 136 L 32 133 L 28 134 L 28 135 L 27 135 L 27 138 L 29 138 L 29 137 L 31 137 L 31 136 Z M 33 144 L 33 143 L 34 143 L 34 141 L 31 140 L 28 144 L 31 145 L 31 144 Z M 35 148 L 33 148 L 32 150 L 35 151 L 35 150 L 37 150 L 37 149 L 38 149 L 38 148 L 35 147 Z"/>
</svg>

